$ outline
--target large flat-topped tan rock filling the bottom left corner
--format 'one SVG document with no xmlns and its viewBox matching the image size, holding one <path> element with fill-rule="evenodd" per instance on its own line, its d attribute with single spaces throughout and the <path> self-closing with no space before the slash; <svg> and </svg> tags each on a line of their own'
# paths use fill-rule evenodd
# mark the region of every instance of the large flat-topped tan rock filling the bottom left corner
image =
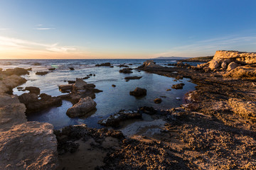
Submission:
<svg viewBox="0 0 256 170">
<path fill-rule="evenodd" d="M 26 122 L 0 133 L 0 169 L 56 169 L 53 125 Z"/>
</svg>

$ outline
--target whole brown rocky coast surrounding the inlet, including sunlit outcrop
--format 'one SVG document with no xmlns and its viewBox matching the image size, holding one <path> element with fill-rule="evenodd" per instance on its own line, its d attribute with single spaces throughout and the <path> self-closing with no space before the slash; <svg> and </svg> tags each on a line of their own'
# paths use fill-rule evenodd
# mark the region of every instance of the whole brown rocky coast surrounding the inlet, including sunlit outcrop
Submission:
<svg viewBox="0 0 256 170">
<path fill-rule="evenodd" d="M 54 133 L 53 125 L 27 122 L 26 106 L 11 95 L 26 80 L 14 71 L 1 72 L 0 169 L 256 169 L 255 59 L 255 53 L 217 51 L 197 67 L 144 62 L 138 70 L 189 78 L 196 90 L 178 108 L 119 111 L 100 121 L 108 128 L 74 125 Z M 80 111 L 80 98 L 96 106 L 92 99 L 100 91 L 94 88 L 77 79 L 60 86 L 70 91 L 60 98 L 69 98 Z M 122 123 L 131 119 L 139 121 Z"/>
</svg>

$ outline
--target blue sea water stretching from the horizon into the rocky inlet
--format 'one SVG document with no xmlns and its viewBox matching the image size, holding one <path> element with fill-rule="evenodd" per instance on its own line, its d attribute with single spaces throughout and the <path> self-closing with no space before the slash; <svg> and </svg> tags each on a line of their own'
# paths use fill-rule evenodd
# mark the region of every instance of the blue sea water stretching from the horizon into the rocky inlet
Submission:
<svg viewBox="0 0 256 170">
<path fill-rule="evenodd" d="M 137 68 L 146 60 L 0 60 L 0 68 L 8 69 L 14 67 L 32 68 L 29 75 L 23 76 L 28 81 L 21 87 L 36 86 L 41 89 L 41 93 L 51 96 L 62 95 L 58 89 L 58 85 L 68 84 L 68 80 L 86 77 L 88 74 L 95 74 L 95 77 L 85 79 L 87 83 L 96 85 L 96 89 L 103 92 L 96 94 L 95 102 L 97 103 L 97 111 L 93 111 L 84 118 L 69 118 L 66 115 L 68 108 L 72 106 L 69 101 L 63 101 L 60 107 L 48 108 L 28 115 L 28 120 L 36 120 L 39 122 L 51 123 L 55 129 L 63 128 L 66 125 L 78 125 L 86 123 L 92 128 L 102 128 L 97 121 L 107 118 L 109 115 L 117 113 L 121 109 L 132 109 L 142 106 L 152 106 L 156 109 L 169 109 L 180 106 L 184 103 L 183 96 L 195 89 L 195 84 L 189 82 L 189 79 L 181 79 L 174 81 L 173 78 L 163 77 L 157 74 L 149 74 L 146 72 L 138 72 L 132 70 L 132 74 L 119 73 L 118 64 L 132 64 L 130 68 Z M 114 65 L 110 67 L 95 67 L 95 64 L 110 62 Z M 176 60 L 154 60 L 156 64 L 166 66 L 166 64 L 175 63 Z M 198 64 L 198 63 L 189 63 Z M 48 71 L 49 68 L 55 68 L 44 76 L 36 75 L 38 71 Z M 75 70 L 70 71 L 69 67 Z M 125 81 L 124 77 L 139 76 L 142 79 Z M 184 83 L 183 89 L 171 89 L 173 84 Z M 112 84 L 116 87 L 112 87 Z M 136 87 L 147 90 L 147 95 L 142 98 L 135 98 L 129 95 L 129 91 L 133 91 Z M 171 91 L 166 91 L 171 89 Z M 27 92 L 27 91 L 25 91 Z M 24 91 L 14 89 L 14 94 L 21 95 Z M 181 101 L 176 98 L 181 98 Z M 154 103 L 155 98 L 162 98 L 159 104 Z"/>
</svg>

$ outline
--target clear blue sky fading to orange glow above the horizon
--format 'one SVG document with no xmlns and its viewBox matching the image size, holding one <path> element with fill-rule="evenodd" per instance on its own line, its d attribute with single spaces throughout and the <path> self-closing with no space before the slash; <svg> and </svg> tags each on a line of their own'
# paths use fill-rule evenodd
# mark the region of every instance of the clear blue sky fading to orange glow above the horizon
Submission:
<svg viewBox="0 0 256 170">
<path fill-rule="evenodd" d="M 0 58 L 256 51 L 256 0 L 1 0 Z"/>
</svg>

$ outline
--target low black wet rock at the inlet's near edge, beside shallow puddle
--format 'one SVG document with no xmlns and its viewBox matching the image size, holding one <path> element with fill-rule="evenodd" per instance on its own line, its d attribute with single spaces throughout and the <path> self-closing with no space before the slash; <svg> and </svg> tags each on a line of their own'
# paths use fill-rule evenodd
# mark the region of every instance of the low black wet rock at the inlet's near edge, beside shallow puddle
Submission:
<svg viewBox="0 0 256 170">
<path fill-rule="evenodd" d="M 142 118 L 142 113 L 139 113 L 137 111 L 125 111 L 121 110 L 118 113 L 115 113 L 114 115 L 110 115 L 110 117 L 99 120 L 100 125 L 105 125 L 105 126 L 112 126 L 112 127 L 117 127 L 119 126 L 119 123 L 124 120 L 129 120 L 129 119 L 140 119 Z"/>
</svg>

